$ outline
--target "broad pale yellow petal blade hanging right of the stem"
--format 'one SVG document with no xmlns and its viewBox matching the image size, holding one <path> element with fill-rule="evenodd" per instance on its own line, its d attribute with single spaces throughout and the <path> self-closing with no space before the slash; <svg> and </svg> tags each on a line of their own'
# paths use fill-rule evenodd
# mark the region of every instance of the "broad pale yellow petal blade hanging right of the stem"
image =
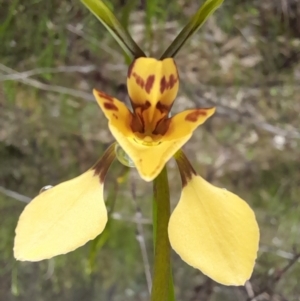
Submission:
<svg viewBox="0 0 300 301">
<path fill-rule="evenodd" d="M 257 257 L 254 212 L 237 195 L 192 175 L 171 215 L 172 248 L 191 266 L 224 285 L 244 285 Z"/>
</svg>

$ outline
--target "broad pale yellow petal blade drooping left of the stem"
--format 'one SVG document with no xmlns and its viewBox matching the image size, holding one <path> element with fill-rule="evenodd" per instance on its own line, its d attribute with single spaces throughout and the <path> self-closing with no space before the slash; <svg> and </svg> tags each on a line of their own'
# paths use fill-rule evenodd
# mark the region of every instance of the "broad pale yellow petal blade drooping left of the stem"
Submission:
<svg viewBox="0 0 300 301">
<path fill-rule="evenodd" d="M 15 258 L 39 261 L 73 251 L 100 234 L 106 222 L 103 183 L 89 170 L 25 207 L 16 228 Z"/>
</svg>

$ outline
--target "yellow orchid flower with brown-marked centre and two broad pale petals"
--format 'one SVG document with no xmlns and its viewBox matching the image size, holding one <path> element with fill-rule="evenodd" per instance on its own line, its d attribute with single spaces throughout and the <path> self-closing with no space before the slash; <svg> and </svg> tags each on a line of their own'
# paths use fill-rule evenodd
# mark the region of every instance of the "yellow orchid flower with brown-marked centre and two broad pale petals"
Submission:
<svg viewBox="0 0 300 301">
<path fill-rule="evenodd" d="M 143 180 L 153 181 L 175 158 L 182 191 L 168 223 L 174 251 L 221 284 L 244 285 L 257 257 L 255 215 L 240 197 L 198 175 L 181 150 L 215 108 L 189 109 L 171 117 L 179 81 L 172 57 L 139 57 L 127 74 L 132 110 L 102 91 L 93 93 L 109 130 Z M 104 230 L 104 179 L 115 157 L 113 144 L 91 169 L 44 191 L 25 207 L 16 228 L 16 259 L 39 261 L 65 254 Z"/>
</svg>

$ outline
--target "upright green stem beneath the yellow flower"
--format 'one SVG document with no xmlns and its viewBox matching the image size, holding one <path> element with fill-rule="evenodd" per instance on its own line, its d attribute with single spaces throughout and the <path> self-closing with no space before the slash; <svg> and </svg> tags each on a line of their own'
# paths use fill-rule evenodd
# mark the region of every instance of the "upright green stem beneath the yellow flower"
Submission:
<svg viewBox="0 0 300 301">
<path fill-rule="evenodd" d="M 154 180 L 153 239 L 154 274 L 151 301 L 174 300 L 171 275 L 171 247 L 168 237 L 170 218 L 170 192 L 166 167 Z"/>
</svg>

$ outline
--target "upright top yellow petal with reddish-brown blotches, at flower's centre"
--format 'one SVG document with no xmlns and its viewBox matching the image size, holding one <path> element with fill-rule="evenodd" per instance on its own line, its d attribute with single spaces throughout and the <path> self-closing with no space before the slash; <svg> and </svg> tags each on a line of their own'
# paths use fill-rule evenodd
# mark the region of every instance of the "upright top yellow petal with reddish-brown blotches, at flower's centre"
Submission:
<svg viewBox="0 0 300 301">
<path fill-rule="evenodd" d="M 172 58 L 159 61 L 141 57 L 129 67 L 128 94 L 135 113 L 142 116 L 146 124 L 155 123 L 168 114 L 178 87 L 177 67 Z"/>
</svg>

